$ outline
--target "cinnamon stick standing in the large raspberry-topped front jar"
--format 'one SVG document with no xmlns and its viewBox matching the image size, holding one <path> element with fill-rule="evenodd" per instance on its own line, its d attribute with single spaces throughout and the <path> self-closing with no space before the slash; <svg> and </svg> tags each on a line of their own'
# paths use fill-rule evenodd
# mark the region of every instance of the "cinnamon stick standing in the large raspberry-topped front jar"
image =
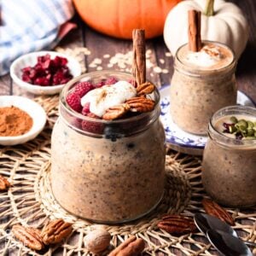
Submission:
<svg viewBox="0 0 256 256">
<path fill-rule="evenodd" d="M 146 82 L 145 31 L 143 29 L 134 29 L 132 31 L 132 40 L 132 74 L 137 85 L 139 85 Z"/>
</svg>

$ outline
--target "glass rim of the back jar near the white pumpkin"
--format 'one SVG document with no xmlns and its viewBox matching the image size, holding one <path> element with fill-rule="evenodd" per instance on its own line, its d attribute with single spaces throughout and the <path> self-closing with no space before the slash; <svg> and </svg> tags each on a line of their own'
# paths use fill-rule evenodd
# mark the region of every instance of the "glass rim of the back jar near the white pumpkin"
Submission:
<svg viewBox="0 0 256 256">
<path fill-rule="evenodd" d="M 181 67 L 183 67 L 183 71 L 182 71 L 183 73 L 186 73 L 186 74 L 189 74 L 190 76 L 195 76 L 195 77 L 200 77 L 201 75 L 212 76 L 212 72 L 214 72 L 214 73 L 223 73 L 227 69 L 230 69 L 232 67 L 236 67 L 236 62 L 237 62 L 236 54 L 235 54 L 234 50 L 231 49 L 227 44 L 223 44 L 223 43 L 220 43 L 220 42 L 217 42 L 217 41 L 211 41 L 211 40 L 203 40 L 202 43 L 217 44 L 217 45 L 220 45 L 220 46 L 224 47 L 225 49 L 229 49 L 230 52 L 233 55 L 233 60 L 230 61 L 230 64 L 228 66 L 225 66 L 225 67 L 221 67 L 221 68 L 214 69 L 214 70 L 211 70 L 211 69 L 196 69 L 196 73 L 193 73 L 193 72 L 186 69 L 187 66 L 178 57 L 179 50 L 182 49 L 185 45 L 188 44 L 188 43 L 186 43 L 186 44 L 183 44 L 180 47 L 178 47 L 178 49 L 176 51 L 176 55 L 175 55 L 174 67 L 177 68 L 176 61 L 178 61 L 178 64 L 181 65 Z"/>
</svg>

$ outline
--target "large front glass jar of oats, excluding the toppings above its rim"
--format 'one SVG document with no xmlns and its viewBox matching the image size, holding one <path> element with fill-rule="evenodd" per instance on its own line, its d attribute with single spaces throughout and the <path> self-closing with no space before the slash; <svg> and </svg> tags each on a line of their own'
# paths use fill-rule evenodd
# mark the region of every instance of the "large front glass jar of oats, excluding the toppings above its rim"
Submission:
<svg viewBox="0 0 256 256">
<path fill-rule="evenodd" d="M 97 84 L 109 77 L 132 79 L 126 73 L 86 73 L 62 90 L 60 117 L 52 133 L 51 183 L 55 199 L 68 212 L 111 224 L 142 217 L 160 202 L 165 132 L 158 90 L 150 95 L 153 111 L 123 119 L 93 119 L 68 106 L 67 94 L 78 81 Z"/>
</svg>

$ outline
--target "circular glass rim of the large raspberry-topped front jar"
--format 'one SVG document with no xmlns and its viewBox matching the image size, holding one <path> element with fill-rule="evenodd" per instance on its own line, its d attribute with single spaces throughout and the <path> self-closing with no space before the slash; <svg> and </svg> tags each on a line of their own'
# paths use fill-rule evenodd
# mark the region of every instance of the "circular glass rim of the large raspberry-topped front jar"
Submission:
<svg viewBox="0 0 256 256">
<path fill-rule="evenodd" d="M 112 71 L 112 70 L 104 70 L 104 71 L 94 71 L 94 72 L 90 72 L 90 73 L 84 73 L 82 75 L 79 75 L 78 77 L 71 79 L 70 81 L 67 82 L 67 84 L 63 87 L 63 89 L 61 90 L 61 95 L 60 95 L 60 105 L 61 108 L 64 108 L 64 110 L 69 113 L 70 115 L 72 115 L 74 118 L 78 118 L 84 121 L 90 121 L 90 122 L 94 122 L 94 123 L 101 123 L 101 124 L 105 124 L 105 125 L 115 125 L 115 124 L 121 124 L 127 121 L 136 121 L 139 119 L 143 119 L 145 117 L 148 116 L 148 114 L 153 113 L 154 110 L 156 108 L 159 107 L 160 104 L 160 92 L 157 88 L 155 88 L 154 90 L 154 103 L 155 103 L 155 107 L 153 111 L 150 112 L 146 112 L 146 113 L 140 113 L 136 116 L 132 116 L 129 118 L 125 118 L 125 119 L 114 119 L 114 120 L 105 120 L 105 119 L 94 119 L 88 116 L 84 116 L 82 113 L 78 113 L 75 110 L 73 110 L 73 108 L 70 108 L 69 105 L 66 102 L 66 96 L 68 91 L 73 87 L 74 84 L 76 84 L 77 82 L 79 82 L 79 80 L 84 79 L 85 77 L 93 77 L 96 75 L 125 75 L 127 77 L 130 77 L 131 79 L 133 79 L 133 76 L 131 75 L 131 73 L 125 73 L 125 72 L 119 72 L 119 71 Z"/>
</svg>

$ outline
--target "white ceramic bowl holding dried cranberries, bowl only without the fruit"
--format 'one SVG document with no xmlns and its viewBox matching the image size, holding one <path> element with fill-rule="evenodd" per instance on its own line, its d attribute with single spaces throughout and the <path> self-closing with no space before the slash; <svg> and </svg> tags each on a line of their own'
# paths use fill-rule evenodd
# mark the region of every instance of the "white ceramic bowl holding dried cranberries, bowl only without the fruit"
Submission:
<svg viewBox="0 0 256 256">
<path fill-rule="evenodd" d="M 22 89 L 36 95 L 53 95 L 59 93 L 65 84 L 49 86 L 35 85 L 26 83 L 21 79 L 21 69 L 23 67 L 35 66 L 38 56 L 46 54 L 49 54 L 51 59 L 55 58 L 56 55 L 67 58 L 67 67 L 69 67 L 70 73 L 73 74 L 73 78 L 81 74 L 81 67 L 79 61 L 75 60 L 73 57 L 55 51 L 36 51 L 26 55 L 22 55 L 12 63 L 10 67 L 10 76 L 14 80 L 15 84 L 19 85 Z"/>
</svg>

